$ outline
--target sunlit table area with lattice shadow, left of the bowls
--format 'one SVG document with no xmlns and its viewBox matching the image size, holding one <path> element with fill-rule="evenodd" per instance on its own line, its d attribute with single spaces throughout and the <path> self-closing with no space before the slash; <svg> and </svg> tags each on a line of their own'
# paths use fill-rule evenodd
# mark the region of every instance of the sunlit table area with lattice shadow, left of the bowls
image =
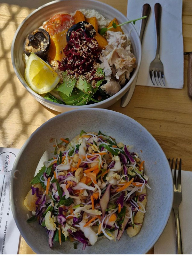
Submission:
<svg viewBox="0 0 192 256">
<path fill-rule="evenodd" d="M 50 1 L 0 0 L 0 141 L 4 147 L 13 147 L 13 144 L 20 147 L 19 143 L 25 141 L 39 124 L 59 114 L 52 110 L 48 112 L 49 109 L 40 103 L 35 102 L 33 108 L 29 106 L 32 96 L 19 82 L 11 62 L 11 44 L 16 29 L 33 11 L 31 8 L 47 2 Z"/>
</svg>

